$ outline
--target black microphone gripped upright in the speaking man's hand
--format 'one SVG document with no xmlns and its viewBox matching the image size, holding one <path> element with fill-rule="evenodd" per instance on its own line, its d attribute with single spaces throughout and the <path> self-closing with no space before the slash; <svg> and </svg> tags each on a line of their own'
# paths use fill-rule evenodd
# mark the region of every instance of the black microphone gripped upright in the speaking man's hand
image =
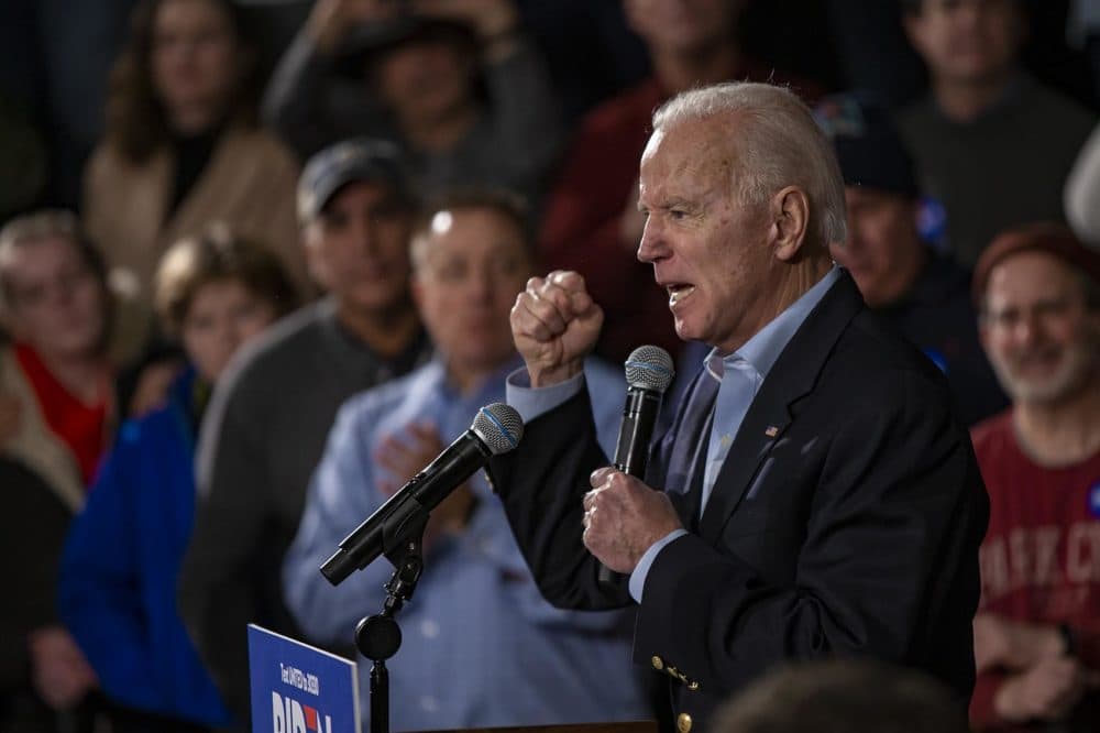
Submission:
<svg viewBox="0 0 1100 733">
<path fill-rule="evenodd" d="M 638 347 L 627 357 L 626 405 L 623 424 L 615 446 L 615 468 L 629 475 L 644 479 L 649 462 L 649 442 L 653 426 L 661 412 L 664 391 L 672 384 L 676 372 L 672 357 L 660 347 Z M 600 566 L 600 582 L 614 582 L 616 573 L 607 566 Z"/>
</svg>

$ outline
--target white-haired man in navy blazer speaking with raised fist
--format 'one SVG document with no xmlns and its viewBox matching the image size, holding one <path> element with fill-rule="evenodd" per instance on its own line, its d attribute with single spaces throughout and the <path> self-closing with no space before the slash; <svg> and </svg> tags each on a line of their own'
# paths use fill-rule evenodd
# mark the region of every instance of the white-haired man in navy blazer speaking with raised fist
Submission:
<svg viewBox="0 0 1100 733">
<path fill-rule="evenodd" d="M 525 437 L 490 470 L 540 589 L 638 604 L 635 663 L 672 686 L 681 733 L 776 664 L 823 656 L 924 670 L 963 714 L 985 488 L 942 374 L 829 258 L 846 222 L 828 141 L 760 84 L 685 92 L 652 129 L 638 258 L 678 335 L 713 350 L 645 480 L 627 475 L 582 373 L 600 294 L 570 272 L 528 281 L 512 311 L 527 373 L 508 384 Z"/>
</svg>

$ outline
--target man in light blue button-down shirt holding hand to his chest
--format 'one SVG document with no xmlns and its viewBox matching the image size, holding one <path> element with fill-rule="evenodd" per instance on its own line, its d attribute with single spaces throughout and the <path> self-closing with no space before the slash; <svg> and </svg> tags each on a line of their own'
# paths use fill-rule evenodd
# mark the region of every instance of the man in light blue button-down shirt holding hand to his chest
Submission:
<svg viewBox="0 0 1100 733">
<path fill-rule="evenodd" d="M 485 194 L 455 196 L 421 221 L 413 292 L 437 354 L 340 412 L 285 565 L 287 604 L 311 638 L 350 642 L 359 619 L 381 611 L 393 571 L 380 559 L 332 588 L 321 562 L 461 435 L 479 407 L 504 398 L 508 372 L 521 364 L 508 311 L 532 272 L 522 232 L 522 215 Z M 584 371 L 600 395 L 595 427 L 609 449 L 623 373 L 595 363 Z M 432 511 L 425 565 L 399 615 L 402 648 L 387 663 L 393 730 L 651 716 L 629 665 L 634 614 L 547 603 L 483 474 Z"/>
</svg>

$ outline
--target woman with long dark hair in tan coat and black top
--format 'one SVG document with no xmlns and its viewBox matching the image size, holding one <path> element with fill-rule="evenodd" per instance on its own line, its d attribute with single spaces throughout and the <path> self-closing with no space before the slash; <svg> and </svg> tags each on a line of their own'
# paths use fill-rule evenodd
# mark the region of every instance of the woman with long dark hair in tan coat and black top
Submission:
<svg viewBox="0 0 1100 733">
<path fill-rule="evenodd" d="M 267 243 L 307 283 L 294 216 L 298 166 L 256 127 L 254 67 L 230 0 L 142 0 L 134 9 L 112 72 L 107 134 L 85 172 L 84 212 L 112 284 L 146 306 L 168 244 L 213 220 Z"/>
</svg>

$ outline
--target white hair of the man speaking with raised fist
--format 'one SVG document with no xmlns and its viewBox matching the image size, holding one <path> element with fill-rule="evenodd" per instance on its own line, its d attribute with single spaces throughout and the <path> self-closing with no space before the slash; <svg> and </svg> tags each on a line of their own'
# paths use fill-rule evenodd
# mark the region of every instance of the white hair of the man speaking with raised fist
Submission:
<svg viewBox="0 0 1100 733">
<path fill-rule="evenodd" d="M 741 200 L 762 205 L 784 186 L 799 186 L 810 199 L 810 226 L 821 243 L 845 241 L 840 165 L 810 108 L 790 89 L 749 81 L 692 89 L 653 112 L 653 132 L 722 116 L 743 121 L 729 136 Z"/>
</svg>

